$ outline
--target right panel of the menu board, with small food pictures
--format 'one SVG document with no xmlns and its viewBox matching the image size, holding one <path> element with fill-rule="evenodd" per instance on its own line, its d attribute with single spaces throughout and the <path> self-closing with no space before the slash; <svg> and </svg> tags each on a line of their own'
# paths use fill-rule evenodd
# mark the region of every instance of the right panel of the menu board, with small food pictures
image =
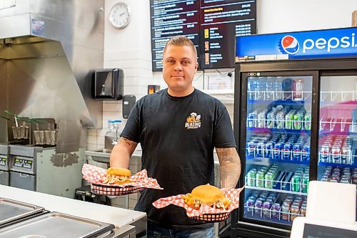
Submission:
<svg viewBox="0 0 357 238">
<path fill-rule="evenodd" d="M 201 69 L 233 68 L 235 36 L 256 34 L 256 1 L 201 1 Z"/>
</svg>

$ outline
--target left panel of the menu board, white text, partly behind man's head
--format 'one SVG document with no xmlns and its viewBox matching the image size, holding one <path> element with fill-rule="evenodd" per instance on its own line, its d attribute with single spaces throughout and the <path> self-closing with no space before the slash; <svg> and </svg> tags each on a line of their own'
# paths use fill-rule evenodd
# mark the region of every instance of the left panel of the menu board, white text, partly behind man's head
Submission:
<svg viewBox="0 0 357 238">
<path fill-rule="evenodd" d="M 199 44 L 199 1 L 150 0 L 153 71 L 162 70 L 162 51 L 172 36 L 187 36 Z"/>
</svg>

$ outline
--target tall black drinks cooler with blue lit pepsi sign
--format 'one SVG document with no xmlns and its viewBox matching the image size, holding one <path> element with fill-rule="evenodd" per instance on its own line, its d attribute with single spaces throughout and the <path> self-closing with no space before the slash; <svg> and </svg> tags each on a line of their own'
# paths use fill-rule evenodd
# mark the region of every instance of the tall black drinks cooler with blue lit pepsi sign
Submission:
<svg viewBox="0 0 357 238">
<path fill-rule="evenodd" d="M 356 34 L 236 37 L 233 131 L 245 189 L 231 237 L 290 237 L 309 181 L 357 184 Z"/>
</svg>

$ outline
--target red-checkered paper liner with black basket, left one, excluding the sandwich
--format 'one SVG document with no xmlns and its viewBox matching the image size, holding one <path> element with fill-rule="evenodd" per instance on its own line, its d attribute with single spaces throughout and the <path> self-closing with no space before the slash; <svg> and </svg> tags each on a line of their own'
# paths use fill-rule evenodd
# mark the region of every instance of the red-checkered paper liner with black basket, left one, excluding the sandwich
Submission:
<svg viewBox="0 0 357 238">
<path fill-rule="evenodd" d="M 141 192 L 144 188 L 162 189 L 156 179 L 148 177 L 146 169 L 132 175 L 130 179 L 133 182 L 126 184 L 103 184 L 102 181 L 106 179 L 106 169 L 90 164 L 83 165 L 82 174 L 84 179 L 91 182 L 91 190 L 102 195 L 120 196 L 118 194 L 121 194 L 121 192 L 130 194 Z"/>
</svg>

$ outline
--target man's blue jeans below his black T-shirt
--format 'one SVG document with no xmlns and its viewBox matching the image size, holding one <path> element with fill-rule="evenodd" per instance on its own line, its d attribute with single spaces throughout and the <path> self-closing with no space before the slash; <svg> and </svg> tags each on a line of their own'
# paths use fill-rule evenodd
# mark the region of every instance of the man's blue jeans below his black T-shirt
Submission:
<svg viewBox="0 0 357 238">
<path fill-rule="evenodd" d="M 148 238 L 213 238 L 214 229 L 211 228 L 194 228 L 189 230 L 177 230 L 177 229 L 166 229 L 163 227 L 156 226 L 154 224 L 148 224 Z"/>
</svg>

